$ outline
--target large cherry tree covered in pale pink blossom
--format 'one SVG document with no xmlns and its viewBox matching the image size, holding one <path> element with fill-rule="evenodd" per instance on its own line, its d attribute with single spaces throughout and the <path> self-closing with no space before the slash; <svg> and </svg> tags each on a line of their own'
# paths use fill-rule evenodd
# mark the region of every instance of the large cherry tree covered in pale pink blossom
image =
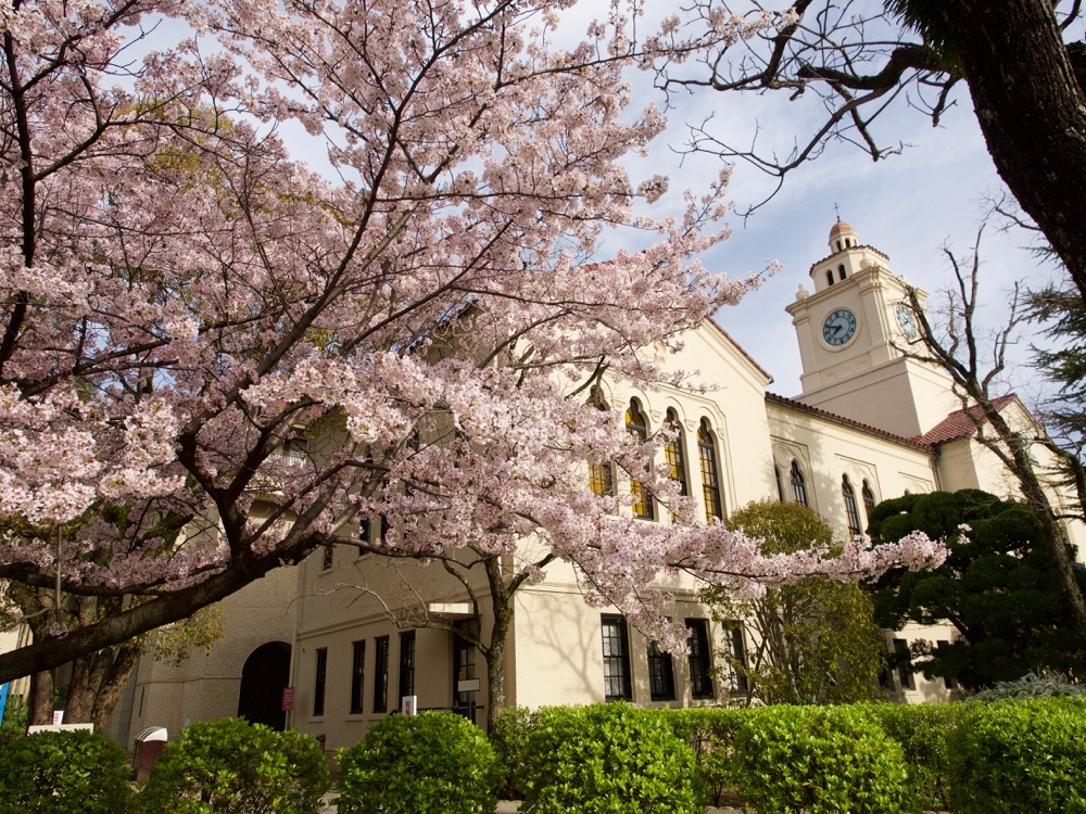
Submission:
<svg viewBox="0 0 1086 814">
<path fill-rule="evenodd" d="M 381 513 L 419 557 L 531 536 L 646 625 L 661 570 L 938 560 L 920 536 L 767 558 L 721 526 L 634 531 L 588 489 L 586 460 L 647 471 L 658 443 L 631 445 L 592 385 L 680 383 L 639 349 L 752 281 L 692 260 L 724 234 L 725 179 L 634 217 L 666 180 L 623 161 L 662 119 L 631 110 L 620 17 L 554 43 L 567 5 L 5 9 L 0 578 L 58 608 L 139 601 L 58 616 L 0 679 L 185 619 Z M 151 50 L 175 25 L 193 37 Z M 292 160 L 292 123 L 330 171 Z M 585 265 L 617 226 L 641 249 Z"/>
</svg>

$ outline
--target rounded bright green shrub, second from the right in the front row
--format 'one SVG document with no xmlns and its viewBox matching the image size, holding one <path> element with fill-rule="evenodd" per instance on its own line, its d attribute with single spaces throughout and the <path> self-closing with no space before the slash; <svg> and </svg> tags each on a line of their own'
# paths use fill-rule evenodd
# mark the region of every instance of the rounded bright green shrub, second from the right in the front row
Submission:
<svg viewBox="0 0 1086 814">
<path fill-rule="evenodd" d="M 901 747 L 859 708 L 750 710 L 735 751 L 741 791 L 758 814 L 919 810 Z"/>
</svg>

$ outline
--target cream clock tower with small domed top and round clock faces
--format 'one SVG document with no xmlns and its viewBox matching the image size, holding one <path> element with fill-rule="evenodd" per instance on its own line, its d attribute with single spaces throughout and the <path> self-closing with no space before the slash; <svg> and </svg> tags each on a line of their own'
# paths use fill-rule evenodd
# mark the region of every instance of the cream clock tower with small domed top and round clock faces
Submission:
<svg viewBox="0 0 1086 814">
<path fill-rule="evenodd" d="M 908 283 L 891 274 L 885 254 L 837 220 L 830 254 L 810 278 L 815 293 L 800 285 L 786 306 L 804 366 L 797 400 L 905 437 L 960 407 L 942 370 L 906 358 L 911 347 L 920 351 L 917 323 Z M 917 293 L 923 305 L 927 294 Z"/>
</svg>

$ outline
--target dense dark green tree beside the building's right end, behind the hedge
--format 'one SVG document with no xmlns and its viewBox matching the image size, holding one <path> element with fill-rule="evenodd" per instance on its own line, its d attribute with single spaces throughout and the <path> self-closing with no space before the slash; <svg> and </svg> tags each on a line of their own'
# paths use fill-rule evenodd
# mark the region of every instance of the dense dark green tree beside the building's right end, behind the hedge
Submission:
<svg viewBox="0 0 1086 814">
<path fill-rule="evenodd" d="M 927 677 L 975 689 L 1023 673 L 1082 673 L 1086 651 L 1059 589 L 1040 525 L 1024 507 L 976 489 L 885 500 L 870 518 L 875 542 L 920 530 L 947 542 L 937 569 L 887 574 L 874 593 L 886 627 L 950 620 L 961 634 L 931 645 L 920 666 Z M 962 537 L 959 526 L 970 531 Z M 1078 574 L 1086 587 L 1086 573 Z"/>
</svg>

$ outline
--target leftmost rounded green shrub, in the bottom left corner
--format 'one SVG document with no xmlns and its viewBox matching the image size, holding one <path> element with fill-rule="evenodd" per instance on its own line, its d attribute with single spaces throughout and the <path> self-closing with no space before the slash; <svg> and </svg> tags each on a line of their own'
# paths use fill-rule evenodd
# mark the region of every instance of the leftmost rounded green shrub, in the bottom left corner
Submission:
<svg viewBox="0 0 1086 814">
<path fill-rule="evenodd" d="M 0 814 L 128 814 L 131 773 L 104 735 L 8 734 L 0 745 Z"/>
</svg>

